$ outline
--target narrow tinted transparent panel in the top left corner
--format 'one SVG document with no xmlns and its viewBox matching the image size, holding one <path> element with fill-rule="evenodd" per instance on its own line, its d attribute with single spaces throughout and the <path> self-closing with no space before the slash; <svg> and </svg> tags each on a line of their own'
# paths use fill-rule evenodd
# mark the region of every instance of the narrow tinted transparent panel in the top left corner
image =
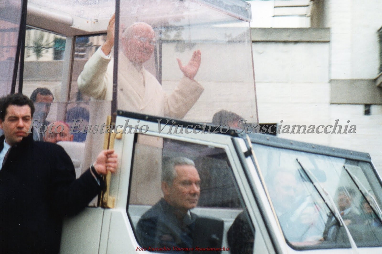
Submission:
<svg viewBox="0 0 382 254">
<path fill-rule="evenodd" d="M 20 0 L 0 4 L 0 97 L 11 92 L 21 17 Z"/>
</svg>

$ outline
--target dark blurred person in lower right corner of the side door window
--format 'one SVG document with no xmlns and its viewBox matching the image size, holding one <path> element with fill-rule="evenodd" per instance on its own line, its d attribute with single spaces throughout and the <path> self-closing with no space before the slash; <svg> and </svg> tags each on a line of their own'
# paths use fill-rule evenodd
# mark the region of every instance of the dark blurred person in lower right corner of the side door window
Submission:
<svg viewBox="0 0 382 254">
<path fill-rule="evenodd" d="M 231 254 L 253 254 L 254 232 L 246 209 L 233 221 L 227 232 L 227 241 Z"/>
</svg>

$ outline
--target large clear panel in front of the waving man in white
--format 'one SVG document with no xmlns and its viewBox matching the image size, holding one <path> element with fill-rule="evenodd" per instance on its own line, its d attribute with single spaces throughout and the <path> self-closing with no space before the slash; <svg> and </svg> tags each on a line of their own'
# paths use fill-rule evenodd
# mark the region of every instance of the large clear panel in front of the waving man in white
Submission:
<svg viewBox="0 0 382 254">
<path fill-rule="evenodd" d="M 231 127 L 238 119 L 257 122 L 246 7 L 239 1 L 121 1 L 117 108 L 206 123 L 233 113 L 213 122 Z M 111 95 L 107 82 L 99 98 Z"/>
</svg>

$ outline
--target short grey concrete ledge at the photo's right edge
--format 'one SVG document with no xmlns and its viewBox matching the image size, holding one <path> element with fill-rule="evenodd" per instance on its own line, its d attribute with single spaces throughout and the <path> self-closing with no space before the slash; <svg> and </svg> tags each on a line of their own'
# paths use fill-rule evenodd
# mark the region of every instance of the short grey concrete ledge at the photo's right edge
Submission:
<svg viewBox="0 0 382 254">
<path fill-rule="evenodd" d="M 382 104 L 382 90 L 374 79 L 330 80 L 332 104 Z"/>
</svg>

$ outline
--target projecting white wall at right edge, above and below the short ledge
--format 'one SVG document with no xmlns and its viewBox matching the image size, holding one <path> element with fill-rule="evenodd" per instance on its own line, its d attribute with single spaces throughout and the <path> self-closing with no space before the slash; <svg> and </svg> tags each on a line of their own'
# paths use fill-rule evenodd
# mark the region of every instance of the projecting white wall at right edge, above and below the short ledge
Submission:
<svg viewBox="0 0 382 254">
<path fill-rule="evenodd" d="M 382 2 L 330 0 L 330 79 L 375 79 L 379 66 L 377 30 L 382 26 Z M 331 121 L 350 120 L 355 134 L 330 135 L 329 145 L 370 153 L 382 172 L 380 144 L 382 106 L 372 105 L 364 116 L 363 104 L 331 104 Z"/>
</svg>

